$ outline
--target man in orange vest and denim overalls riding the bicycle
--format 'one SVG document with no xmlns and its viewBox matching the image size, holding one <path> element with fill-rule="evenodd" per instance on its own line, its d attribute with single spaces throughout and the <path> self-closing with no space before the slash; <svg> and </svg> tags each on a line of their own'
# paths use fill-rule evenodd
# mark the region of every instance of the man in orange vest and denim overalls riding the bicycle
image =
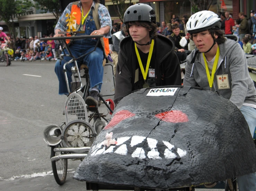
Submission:
<svg viewBox="0 0 256 191">
<path fill-rule="evenodd" d="M 72 24 L 73 21 L 74 24 Z M 112 23 L 108 10 L 105 6 L 99 3 L 99 0 L 80 0 L 70 3 L 64 10 L 56 24 L 54 37 L 63 36 L 63 34 L 58 34 L 60 31 L 69 31 L 72 29 L 73 32 L 80 32 L 76 35 L 104 35 L 105 38 L 110 38 L 111 28 Z M 106 41 L 101 39 L 100 46 L 97 47 L 94 52 L 77 60 L 79 68 L 81 64 L 86 64 L 89 69 L 90 94 L 85 100 L 88 106 L 98 107 L 99 92 L 103 83 L 103 60 L 107 57 L 104 50 L 104 42 Z M 78 58 L 85 53 L 92 51 L 96 46 L 96 43 L 97 39 L 93 38 L 76 40 L 69 45 L 69 49 L 72 55 Z M 66 49 L 64 49 L 64 52 L 68 54 Z M 60 95 L 69 94 L 65 82 L 63 65 L 71 59 L 71 57 L 64 56 L 64 60 L 57 60 L 55 64 L 55 73 L 59 79 Z M 71 67 L 74 66 L 74 62 L 69 65 Z M 66 67 L 69 82 L 72 81 L 71 67 Z"/>
</svg>

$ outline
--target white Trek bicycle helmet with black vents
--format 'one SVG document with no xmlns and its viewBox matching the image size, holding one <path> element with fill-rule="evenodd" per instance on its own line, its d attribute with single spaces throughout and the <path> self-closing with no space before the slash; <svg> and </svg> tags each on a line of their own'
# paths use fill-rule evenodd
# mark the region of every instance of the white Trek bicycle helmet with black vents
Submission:
<svg viewBox="0 0 256 191">
<path fill-rule="evenodd" d="M 220 18 L 212 11 L 199 11 L 193 14 L 187 22 L 187 32 L 189 34 L 220 27 Z"/>
</svg>

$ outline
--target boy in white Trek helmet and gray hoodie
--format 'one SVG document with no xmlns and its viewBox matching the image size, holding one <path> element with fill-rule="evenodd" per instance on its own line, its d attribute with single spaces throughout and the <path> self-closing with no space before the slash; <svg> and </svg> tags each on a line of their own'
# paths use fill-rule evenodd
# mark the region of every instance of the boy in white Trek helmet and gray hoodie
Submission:
<svg viewBox="0 0 256 191">
<path fill-rule="evenodd" d="M 237 43 L 238 38 L 224 36 L 220 19 L 212 11 L 193 14 L 186 27 L 196 48 L 187 57 L 183 85 L 199 86 L 229 99 L 244 115 L 253 136 L 256 90 L 248 73 L 245 53 Z M 246 175 L 237 178 L 239 191 L 256 190 L 256 173 L 252 172 L 255 169 L 245 168 Z"/>
</svg>

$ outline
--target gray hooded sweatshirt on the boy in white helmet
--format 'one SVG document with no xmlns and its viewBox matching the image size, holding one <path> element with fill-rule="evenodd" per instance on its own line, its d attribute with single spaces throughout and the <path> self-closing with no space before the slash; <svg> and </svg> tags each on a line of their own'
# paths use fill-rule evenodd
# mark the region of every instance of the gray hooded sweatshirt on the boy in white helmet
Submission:
<svg viewBox="0 0 256 191">
<path fill-rule="evenodd" d="M 221 96 L 229 99 L 239 109 L 243 103 L 256 105 L 256 90 L 249 76 L 245 53 L 237 43 L 237 36 L 228 35 L 225 38 L 227 41 L 219 44 L 219 64 L 214 74 L 212 91 L 218 91 Z M 187 57 L 183 85 L 199 86 L 210 90 L 204 61 L 200 62 L 201 53 L 197 54 L 195 63 L 191 63 L 196 50 L 195 48 Z M 218 89 L 216 76 L 222 74 L 228 74 L 230 89 Z"/>
</svg>

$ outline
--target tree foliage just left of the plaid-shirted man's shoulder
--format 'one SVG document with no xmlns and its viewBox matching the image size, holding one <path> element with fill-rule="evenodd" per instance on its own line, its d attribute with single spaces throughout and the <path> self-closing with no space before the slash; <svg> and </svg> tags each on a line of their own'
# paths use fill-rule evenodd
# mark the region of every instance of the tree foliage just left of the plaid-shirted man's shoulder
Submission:
<svg viewBox="0 0 256 191">
<path fill-rule="evenodd" d="M 50 12 L 56 18 L 58 22 L 61 15 L 59 0 L 34 0 L 36 2 L 36 8 L 41 10 L 41 13 Z"/>
</svg>

